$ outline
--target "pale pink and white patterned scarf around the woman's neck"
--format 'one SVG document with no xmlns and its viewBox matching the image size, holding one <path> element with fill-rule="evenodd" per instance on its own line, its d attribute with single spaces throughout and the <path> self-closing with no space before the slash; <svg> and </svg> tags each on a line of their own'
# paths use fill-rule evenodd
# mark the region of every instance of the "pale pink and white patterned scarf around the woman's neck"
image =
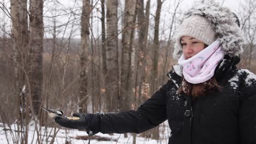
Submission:
<svg viewBox="0 0 256 144">
<path fill-rule="evenodd" d="M 183 67 L 183 76 L 189 83 L 202 83 L 210 80 L 214 71 L 224 57 L 224 51 L 219 46 L 219 41 L 197 53 L 195 56 L 185 59 L 184 55 L 179 58 L 178 64 Z"/>
</svg>

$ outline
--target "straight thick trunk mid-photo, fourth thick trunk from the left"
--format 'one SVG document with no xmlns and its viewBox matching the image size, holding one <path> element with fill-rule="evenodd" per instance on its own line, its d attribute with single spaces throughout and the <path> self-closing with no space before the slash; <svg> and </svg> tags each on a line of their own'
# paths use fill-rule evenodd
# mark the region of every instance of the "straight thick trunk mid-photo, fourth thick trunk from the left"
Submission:
<svg viewBox="0 0 256 144">
<path fill-rule="evenodd" d="M 107 1 L 107 107 L 108 111 L 118 111 L 118 1 Z"/>
</svg>

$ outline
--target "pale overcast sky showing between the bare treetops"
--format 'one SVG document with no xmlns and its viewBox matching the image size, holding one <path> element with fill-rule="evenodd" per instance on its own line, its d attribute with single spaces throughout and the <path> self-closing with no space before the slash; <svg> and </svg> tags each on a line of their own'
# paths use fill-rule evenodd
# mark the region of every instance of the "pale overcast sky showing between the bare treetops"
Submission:
<svg viewBox="0 0 256 144">
<path fill-rule="evenodd" d="M 10 8 L 9 5 L 9 0 L 0 0 L 2 3 L 5 3 L 5 6 L 7 8 Z M 146 0 L 144 0 L 146 2 Z M 178 1 L 178 0 L 176 0 Z M 223 0 L 217 0 L 218 2 L 222 3 Z M 244 2 L 246 0 L 225 0 L 223 5 L 226 7 L 229 7 L 232 11 L 237 13 L 239 11 L 239 5 L 241 2 Z M 94 0 L 94 3 L 96 3 L 97 0 Z M 124 8 L 124 0 L 119 1 L 119 11 L 122 11 Z M 151 0 L 151 5 L 150 5 L 150 25 L 151 25 L 151 30 L 149 34 L 153 34 L 153 24 L 154 24 L 154 18 L 153 15 L 155 14 L 155 9 L 156 9 L 156 0 Z M 161 16 L 160 16 L 160 39 L 161 38 L 167 38 L 168 35 L 168 30 L 170 30 L 170 22 L 171 22 L 171 17 L 174 9 L 174 2 L 175 0 L 166 0 L 164 4 L 162 5 L 162 10 L 161 10 Z M 94 13 L 95 17 L 101 17 L 100 14 L 100 2 L 96 5 L 96 9 L 92 11 Z M 192 5 L 195 4 L 194 0 L 183 0 L 181 3 L 181 7 L 179 7 L 179 13 L 182 13 L 182 11 L 191 8 Z M 2 5 L 0 5 L 2 7 Z M 80 38 L 80 13 L 81 13 L 81 7 L 82 7 L 82 0 L 44 0 L 44 26 L 45 26 L 45 38 L 50 38 L 52 37 L 51 32 L 53 31 L 53 15 L 58 15 L 55 17 L 55 21 L 57 22 L 56 25 L 60 26 L 57 28 L 57 31 L 59 34 L 57 35 L 58 37 L 68 37 L 70 33 L 72 33 L 72 38 Z M 56 10 L 54 10 L 56 9 Z M 64 9 L 64 10 L 63 10 Z M 69 9 L 73 9 L 73 14 L 71 15 Z M 9 10 L 10 11 L 10 10 Z M 10 19 L 9 17 L 5 16 L 5 13 L 0 9 L 0 27 L 3 29 L 3 24 L 6 23 L 5 25 L 5 31 L 10 33 Z M 119 14 L 119 16 L 121 16 Z M 4 19 L 3 19 L 4 17 Z M 68 22 L 68 20 L 72 20 L 73 17 L 77 17 L 76 20 L 70 21 L 68 26 L 66 27 L 65 24 Z M 239 17 L 239 15 L 238 15 Z M 119 20 L 120 27 L 121 29 L 121 21 Z M 64 25 L 64 26 L 62 26 Z M 94 18 L 94 22 L 92 23 L 92 31 L 94 33 L 94 36 L 97 38 L 98 33 L 101 32 L 101 22 L 100 19 Z M 2 34 L 2 30 L 0 29 L 0 33 Z M 121 37 L 121 35 L 119 35 Z"/>
</svg>

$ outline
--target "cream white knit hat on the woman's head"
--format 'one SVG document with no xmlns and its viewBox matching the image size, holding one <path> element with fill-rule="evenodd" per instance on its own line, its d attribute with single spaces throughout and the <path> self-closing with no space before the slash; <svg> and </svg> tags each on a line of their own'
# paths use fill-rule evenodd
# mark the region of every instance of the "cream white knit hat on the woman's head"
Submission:
<svg viewBox="0 0 256 144">
<path fill-rule="evenodd" d="M 199 39 L 206 45 L 212 44 L 217 39 L 217 33 L 214 31 L 211 22 L 199 15 L 193 15 L 184 19 L 179 27 L 176 35 L 176 43 L 180 49 L 182 49 L 181 38 L 184 35 Z"/>
</svg>

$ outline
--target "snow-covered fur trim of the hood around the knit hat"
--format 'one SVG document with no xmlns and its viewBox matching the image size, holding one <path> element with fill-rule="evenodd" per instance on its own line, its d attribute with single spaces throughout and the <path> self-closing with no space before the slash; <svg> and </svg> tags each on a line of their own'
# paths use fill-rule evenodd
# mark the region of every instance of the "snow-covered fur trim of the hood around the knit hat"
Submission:
<svg viewBox="0 0 256 144">
<path fill-rule="evenodd" d="M 213 0 L 207 0 L 186 11 L 181 21 L 192 15 L 205 16 L 212 23 L 225 55 L 230 57 L 241 55 L 243 52 L 243 34 L 240 27 L 237 26 L 237 19 L 234 13 L 229 8 L 222 7 Z M 178 31 L 179 29 L 177 29 Z M 181 55 L 182 47 L 179 47 L 176 43 L 174 45 L 173 58 L 178 61 Z"/>
</svg>

